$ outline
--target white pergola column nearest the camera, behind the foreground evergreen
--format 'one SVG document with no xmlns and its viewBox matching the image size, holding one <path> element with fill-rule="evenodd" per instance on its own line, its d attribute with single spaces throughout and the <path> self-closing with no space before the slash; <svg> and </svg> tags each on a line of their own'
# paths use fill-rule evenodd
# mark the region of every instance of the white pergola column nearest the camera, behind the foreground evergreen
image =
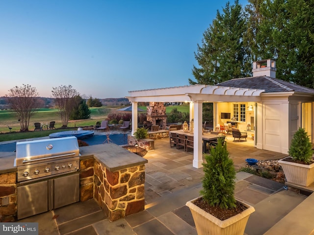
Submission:
<svg viewBox="0 0 314 235">
<path fill-rule="evenodd" d="M 193 167 L 203 167 L 203 101 L 194 101 Z"/>
</svg>

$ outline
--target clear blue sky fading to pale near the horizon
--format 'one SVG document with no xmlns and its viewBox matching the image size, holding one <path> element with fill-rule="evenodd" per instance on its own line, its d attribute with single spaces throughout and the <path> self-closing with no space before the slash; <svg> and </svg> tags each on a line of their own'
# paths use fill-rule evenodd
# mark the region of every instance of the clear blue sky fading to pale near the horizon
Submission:
<svg viewBox="0 0 314 235">
<path fill-rule="evenodd" d="M 1 0 L 0 96 L 23 84 L 94 98 L 188 85 L 197 44 L 226 2 Z"/>
</svg>

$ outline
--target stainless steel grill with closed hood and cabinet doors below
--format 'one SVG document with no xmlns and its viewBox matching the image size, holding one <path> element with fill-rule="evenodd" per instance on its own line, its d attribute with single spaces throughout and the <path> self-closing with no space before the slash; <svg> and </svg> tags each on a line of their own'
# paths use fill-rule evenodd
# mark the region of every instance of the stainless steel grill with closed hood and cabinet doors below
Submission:
<svg viewBox="0 0 314 235">
<path fill-rule="evenodd" d="M 76 137 L 16 144 L 18 219 L 79 201 Z"/>
</svg>

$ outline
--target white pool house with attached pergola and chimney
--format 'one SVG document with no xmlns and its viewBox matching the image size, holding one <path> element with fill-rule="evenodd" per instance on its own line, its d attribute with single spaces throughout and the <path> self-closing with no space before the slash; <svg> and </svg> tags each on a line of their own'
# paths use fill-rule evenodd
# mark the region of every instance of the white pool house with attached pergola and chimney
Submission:
<svg viewBox="0 0 314 235">
<path fill-rule="evenodd" d="M 137 102 L 189 102 L 194 118 L 193 166 L 202 167 L 202 104 L 214 105 L 214 126 L 224 124 L 221 113 L 231 113 L 237 128 L 251 125 L 254 145 L 259 149 L 288 153 L 290 141 L 299 127 L 313 142 L 314 89 L 276 79 L 276 62 L 253 63 L 253 76 L 232 79 L 216 86 L 191 85 L 129 92 L 132 102 L 132 133 L 137 127 Z M 195 141 L 199 140 L 199 141 Z"/>
</svg>

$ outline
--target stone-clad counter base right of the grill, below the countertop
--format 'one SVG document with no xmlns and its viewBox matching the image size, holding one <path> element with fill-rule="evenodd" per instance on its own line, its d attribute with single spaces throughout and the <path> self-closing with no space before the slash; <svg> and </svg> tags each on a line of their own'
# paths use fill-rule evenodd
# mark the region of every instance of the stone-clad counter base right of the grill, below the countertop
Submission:
<svg viewBox="0 0 314 235">
<path fill-rule="evenodd" d="M 95 160 L 94 169 L 94 197 L 110 221 L 144 210 L 145 165 L 110 172 Z"/>
</svg>

